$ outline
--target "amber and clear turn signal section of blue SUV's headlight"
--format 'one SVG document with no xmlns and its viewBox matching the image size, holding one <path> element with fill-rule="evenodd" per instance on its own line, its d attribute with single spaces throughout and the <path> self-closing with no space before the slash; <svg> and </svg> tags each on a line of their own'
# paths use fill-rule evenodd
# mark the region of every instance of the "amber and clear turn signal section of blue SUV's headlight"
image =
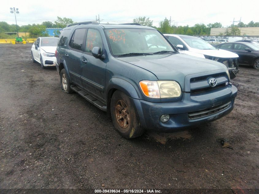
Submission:
<svg viewBox="0 0 259 194">
<path fill-rule="evenodd" d="M 145 96 L 149 98 L 160 98 L 158 83 L 156 81 L 141 81 L 139 86 Z"/>
</svg>

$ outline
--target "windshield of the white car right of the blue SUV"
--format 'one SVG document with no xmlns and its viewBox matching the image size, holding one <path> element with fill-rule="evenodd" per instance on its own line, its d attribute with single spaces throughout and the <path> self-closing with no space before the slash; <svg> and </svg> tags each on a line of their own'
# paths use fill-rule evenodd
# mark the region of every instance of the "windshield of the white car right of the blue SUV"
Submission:
<svg viewBox="0 0 259 194">
<path fill-rule="evenodd" d="M 180 37 L 192 48 L 197 48 L 197 49 L 201 49 L 201 50 L 206 50 L 206 49 L 215 50 L 216 49 L 213 46 L 211 46 L 209 43 L 207 43 L 206 41 L 204 41 L 200 38 L 196 38 L 196 37 L 192 37 L 192 36 L 180 36 Z M 215 41 L 215 40 L 210 40 L 210 41 Z"/>
</svg>

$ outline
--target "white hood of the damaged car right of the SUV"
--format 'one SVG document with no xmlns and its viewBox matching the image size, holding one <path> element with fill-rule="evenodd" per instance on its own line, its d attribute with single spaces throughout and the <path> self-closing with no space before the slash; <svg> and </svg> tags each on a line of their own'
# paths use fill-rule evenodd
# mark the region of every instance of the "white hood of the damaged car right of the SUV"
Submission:
<svg viewBox="0 0 259 194">
<path fill-rule="evenodd" d="M 238 55 L 234 52 L 222 50 L 222 49 L 216 49 L 216 50 L 201 50 L 201 49 L 193 49 L 192 51 L 203 54 L 203 55 L 208 55 L 212 57 L 220 57 L 220 58 L 237 58 Z"/>
</svg>

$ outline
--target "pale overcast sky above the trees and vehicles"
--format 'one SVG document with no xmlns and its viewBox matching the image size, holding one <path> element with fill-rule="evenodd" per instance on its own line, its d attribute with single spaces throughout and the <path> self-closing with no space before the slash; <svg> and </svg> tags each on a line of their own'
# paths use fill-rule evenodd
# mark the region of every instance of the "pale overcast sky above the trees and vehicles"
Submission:
<svg viewBox="0 0 259 194">
<path fill-rule="evenodd" d="M 62 2 L 62 3 L 61 3 Z M 28 1 L 3 0 L 0 7 L 0 21 L 15 24 L 14 14 L 10 7 L 19 8 L 17 24 L 41 24 L 43 21 L 54 22 L 59 17 L 71 18 L 74 22 L 95 20 L 100 15 L 101 23 L 128 23 L 139 16 L 149 17 L 153 25 L 159 27 L 159 21 L 170 19 L 177 26 L 196 23 L 220 22 L 227 27 L 235 21 L 245 24 L 259 21 L 259 1 L 153 1 L 153 0 L 99 0 L 99 1 Z M 237 22 L 235 23 L 237 24 Z"/>
</svg>

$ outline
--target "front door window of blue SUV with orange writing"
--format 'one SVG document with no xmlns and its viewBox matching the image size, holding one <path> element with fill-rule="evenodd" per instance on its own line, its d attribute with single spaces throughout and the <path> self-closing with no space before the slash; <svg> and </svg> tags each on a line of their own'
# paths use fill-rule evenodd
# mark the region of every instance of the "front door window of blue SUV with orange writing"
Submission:
<svg viewBox="0 0 259 194">
<path fill-rule="evenodd" d="M 98 30 L 88 29 L 86 36 L 86 52 L 92 53 L 94 47 L 100 47 L 102 51 L 102 39 Z"/>
</svg>

